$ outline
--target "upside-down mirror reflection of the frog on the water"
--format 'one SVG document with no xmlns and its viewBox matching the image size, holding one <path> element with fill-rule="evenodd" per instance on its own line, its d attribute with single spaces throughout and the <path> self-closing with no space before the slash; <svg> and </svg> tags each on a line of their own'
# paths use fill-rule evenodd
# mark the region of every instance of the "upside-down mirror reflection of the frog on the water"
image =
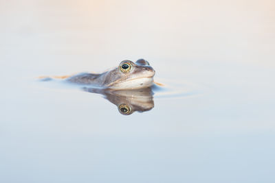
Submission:
<svg viewBox="0 0 275 183">
<path fill-rule="evenodd" d="M 83 88 L 90 93 L 99 93 L 104 98 L 118 106 L 118 111 L 124 115 L 133 114 L 133 112 L 145 112 L 154 107 L 153 91 L 151 88 L 142 88 L 138 90 L 109 90 L 98 88 Z"/>
</svg>

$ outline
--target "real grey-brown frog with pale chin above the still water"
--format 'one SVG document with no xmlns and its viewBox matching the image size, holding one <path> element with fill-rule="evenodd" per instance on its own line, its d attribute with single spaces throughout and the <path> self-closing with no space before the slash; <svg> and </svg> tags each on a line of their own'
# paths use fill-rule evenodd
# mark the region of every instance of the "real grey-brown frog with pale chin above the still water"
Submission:
<svg viewBox="0 0 275 183">
<path fill-rule="evenodd" d="M 153 85 L 155 70 L 146 60 L 135 63 L 130 60 L 120 62 L 120 65 L 101 74 L 80 73 L 67 78 L 67 81 L 78 84 L 91 84 L 114 90 L 147 88 Z"/>
</svg>

